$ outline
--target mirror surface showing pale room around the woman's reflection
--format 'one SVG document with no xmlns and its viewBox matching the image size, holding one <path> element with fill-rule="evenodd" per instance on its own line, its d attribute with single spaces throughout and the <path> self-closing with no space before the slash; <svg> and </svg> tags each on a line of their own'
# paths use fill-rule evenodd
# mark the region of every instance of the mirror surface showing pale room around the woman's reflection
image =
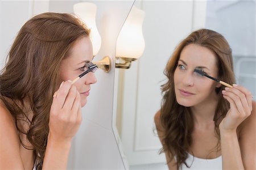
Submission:
<svg viewBox="0 0 256 170">
<path fill-rule="evenodd" d="M 189 33 L 213 29 L 232 47 L 237 83 L 255 96 L 255 1 L 136 1 L 134 6 L 145 12 L 146 46 L 130 69 L 115 69 L 113 130 L 127 168 L 168 169 L 154 131 L 168 59 Z"/>
</svg>

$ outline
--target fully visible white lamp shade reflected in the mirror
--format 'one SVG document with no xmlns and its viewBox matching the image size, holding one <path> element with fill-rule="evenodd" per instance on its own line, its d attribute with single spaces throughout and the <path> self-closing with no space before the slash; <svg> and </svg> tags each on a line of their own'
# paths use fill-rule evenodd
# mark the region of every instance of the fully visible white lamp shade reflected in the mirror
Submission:
<svg viewBox="0 0 256 170">
<path fill-rule="evenodd" d="M 133 6 L 123 24 L 117 38 L 116 57 L 134 58 L 141 57 L 145 42 L 142 34 L 142 24 L 145 12 Z"/>
</svg>

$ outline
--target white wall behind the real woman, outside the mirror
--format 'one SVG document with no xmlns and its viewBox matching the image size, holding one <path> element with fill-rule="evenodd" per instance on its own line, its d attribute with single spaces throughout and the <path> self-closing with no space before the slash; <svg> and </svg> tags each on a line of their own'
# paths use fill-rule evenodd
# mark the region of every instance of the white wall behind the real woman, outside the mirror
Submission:
<svg viewBox="0 0 256 170">
<path fill-rule="evenodd" d="M 0 61 L 3 61 L 20 27 L 40 12 L 73 12 L 78 1 L 0 1 Z M 133 1 L 87 1 L 96 3 L 97 26 L 101 34 L 96 61 L 115 56 L 115 40 Z M 1 65 L 0 65 L 1 66 Z M 113 66 L 113 63 L 112 63 Z M 98 82 L 91 87 L 88 104 L 82 109 L 83 121 L 75 139 L 69 169 L 124 169 L 112 130 L 114 68 L 96 72 Z"/>
</svg>

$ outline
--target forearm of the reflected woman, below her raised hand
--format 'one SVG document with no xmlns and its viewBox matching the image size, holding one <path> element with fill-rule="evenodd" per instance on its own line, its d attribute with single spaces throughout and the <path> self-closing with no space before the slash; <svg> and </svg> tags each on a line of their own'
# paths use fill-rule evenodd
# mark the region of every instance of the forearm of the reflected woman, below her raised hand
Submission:
<svg viewBox="0 0 256 170">
<path fill-rule="evenodd" d="M 236 131 L 221 131 L 222 169 L 244 169 Z"/>
</svg>

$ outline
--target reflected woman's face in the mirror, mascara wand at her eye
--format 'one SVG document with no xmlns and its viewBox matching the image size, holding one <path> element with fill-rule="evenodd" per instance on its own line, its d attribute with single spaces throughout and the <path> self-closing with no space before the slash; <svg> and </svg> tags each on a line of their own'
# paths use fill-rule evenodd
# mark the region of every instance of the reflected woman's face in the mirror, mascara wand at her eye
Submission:
<svg viewBox="0 0 256 170">
<path fill-rule="evenodd" d="M 204 46 L 189 44 L 183 48 L 174 72 L 177 103 L 192 107 L 217 99 L 214 90 L 220 84 L 194 71 L 196 67 L 201 67 L 205 73 L 217 78 L 216 63 L 214 53 Z"/>
</svg>

